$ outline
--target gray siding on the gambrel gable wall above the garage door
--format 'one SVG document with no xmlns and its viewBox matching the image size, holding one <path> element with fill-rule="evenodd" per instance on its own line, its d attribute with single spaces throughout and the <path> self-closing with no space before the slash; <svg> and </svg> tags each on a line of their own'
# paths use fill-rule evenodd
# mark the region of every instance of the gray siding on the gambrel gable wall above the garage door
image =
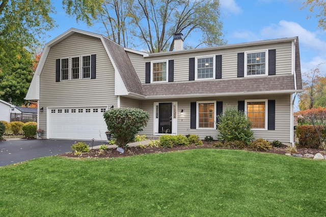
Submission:
<svg viewBox="0 0 326 217">
<path fill-rule="evenodd" d="M 56 59 L 96 54 L 96 79 L 56 82 Z M 70 67 L 70 59 L 69 59 Z M 70 74 L 69 74 L 70 75 Z M 114 95 L 114 68 L 100 39 L 73 34 L 52 46 L 40 75 L 40 128 L 46 129 L 47 107 L 109 106 Z M 46 135 L 44 132 L 43 135 Z"/>
</svg>

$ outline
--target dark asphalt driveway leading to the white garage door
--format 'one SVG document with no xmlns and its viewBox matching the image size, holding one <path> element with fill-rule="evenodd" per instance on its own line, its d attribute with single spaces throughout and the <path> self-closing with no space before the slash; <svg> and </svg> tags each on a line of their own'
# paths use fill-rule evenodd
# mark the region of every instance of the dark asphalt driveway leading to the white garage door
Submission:
<svg viewBox="0 0 326 217">
<path fill-rule="evenodd" d="M 19 163 L 45 156 L 71 151 L 71 145 L 76 140 L 33 139 L 0 141 L 0 166 Z M 76 141 L 79 142 L 79 141 Z M 92 141 L 84 141 L 92 147 Z M 94 147 L 105 144 L 103 141 L 94 141 Z"/>
</svg>

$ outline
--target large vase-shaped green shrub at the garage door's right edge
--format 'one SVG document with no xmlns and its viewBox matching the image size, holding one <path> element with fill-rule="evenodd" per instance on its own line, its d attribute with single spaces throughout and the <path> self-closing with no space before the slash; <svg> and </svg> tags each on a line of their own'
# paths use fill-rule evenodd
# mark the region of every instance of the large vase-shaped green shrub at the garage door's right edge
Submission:
<svg viewBox="0 0 326 217">
<path fill-rule="evenodd" d="M 128 142 L 147 126 L 149 113 L 138 108 L 114 108 L 104 112 L 107 130 L 114 134 L 119 147 Z"/>
</svg>

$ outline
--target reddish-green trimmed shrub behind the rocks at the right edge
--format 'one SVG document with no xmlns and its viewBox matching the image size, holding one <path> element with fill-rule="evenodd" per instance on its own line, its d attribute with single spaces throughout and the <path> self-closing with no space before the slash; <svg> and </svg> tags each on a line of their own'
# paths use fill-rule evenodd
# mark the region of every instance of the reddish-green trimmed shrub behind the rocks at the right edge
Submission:
<svg viewBox="0 0 326 217">
<path fill-rule="evenodd" d="M 325 138 L 325 129 L 322 126 L 319 126 L 320 132 L 322 132 L 322 137 Z M 299 140 L 301 147 L 305 148 L 318 148 L 319 137 L 318 133 L 313 125 L 302 125 L 297 126 L 295 130 L 295 135 Z"/>
</svg>

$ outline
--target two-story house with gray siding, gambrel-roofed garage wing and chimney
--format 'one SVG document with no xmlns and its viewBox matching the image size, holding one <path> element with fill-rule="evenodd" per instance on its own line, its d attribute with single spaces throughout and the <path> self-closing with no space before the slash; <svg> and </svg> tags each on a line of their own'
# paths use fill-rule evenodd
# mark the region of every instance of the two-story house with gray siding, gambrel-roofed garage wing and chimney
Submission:
<svg viewBox="0 0 326 217">
<path fill-rule="evenodd" d="M 26 100 L 39 102 L 46 138 L 98 139 L 112 105 L 150 113 L 146 135 L 216 136 L 216 116 L 244 110 L 254 137 L 293 142 L 293 94 L 302 91 L 298 38 L 144 53 L 69 29 L 47 43 Z"/>
</svg>

